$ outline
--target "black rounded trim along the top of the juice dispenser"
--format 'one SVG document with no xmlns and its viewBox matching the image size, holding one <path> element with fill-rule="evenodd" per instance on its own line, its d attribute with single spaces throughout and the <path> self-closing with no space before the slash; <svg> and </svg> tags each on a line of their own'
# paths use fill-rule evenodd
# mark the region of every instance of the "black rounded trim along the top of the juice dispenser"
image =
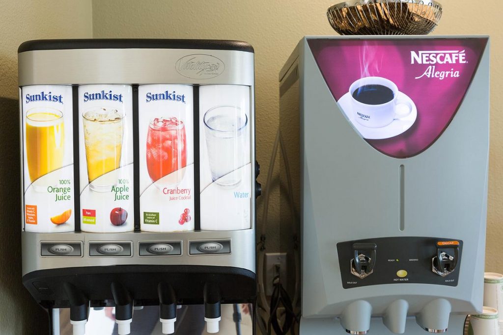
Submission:
<svg viewBox="0 0 503 335">
<path fill-rule="evenodd" d="M 204 49 L 254 52 L 250 44 L 234 40 L 72 39 L 26 41 L 19 46 L 18 53 L 67 49 Z"/>
</svg>

